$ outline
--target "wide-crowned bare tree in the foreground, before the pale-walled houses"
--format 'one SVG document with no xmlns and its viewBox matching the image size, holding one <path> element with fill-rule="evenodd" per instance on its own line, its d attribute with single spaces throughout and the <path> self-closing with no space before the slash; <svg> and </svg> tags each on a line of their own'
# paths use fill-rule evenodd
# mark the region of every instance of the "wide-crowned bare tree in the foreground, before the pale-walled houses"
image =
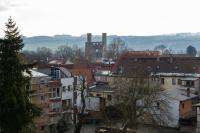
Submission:
<svg viewBox="0 0 200 133">
<path fill-rule="evenodd" d="M 161 97 L 158 82 L 148 77 L 117 77 L 113 84 L 118 107 L 125 121 L 124 130 L 129 127 L 136 132 L 138 123 L 165 125 L 168 103 Z"/>
</svg>

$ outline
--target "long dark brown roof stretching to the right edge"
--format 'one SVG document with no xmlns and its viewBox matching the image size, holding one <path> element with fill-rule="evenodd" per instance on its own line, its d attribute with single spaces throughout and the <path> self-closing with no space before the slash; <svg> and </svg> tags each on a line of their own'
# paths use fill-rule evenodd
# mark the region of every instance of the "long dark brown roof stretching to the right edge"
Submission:
<svg viewBox="0 0 200 133">
<path fill-rule="evenodd" d="M 112 71 L 120 73 L 200 73 L 200 57 L 174 57 L 171 56 L 135 56 L 122 55 L 115 63 Z"/>
</svg>

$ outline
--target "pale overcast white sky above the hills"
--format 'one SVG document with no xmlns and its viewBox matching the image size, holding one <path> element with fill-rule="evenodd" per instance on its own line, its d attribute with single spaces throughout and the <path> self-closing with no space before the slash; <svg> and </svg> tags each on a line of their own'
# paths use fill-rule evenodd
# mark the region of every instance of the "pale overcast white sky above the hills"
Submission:
<svg viewBox="0 0 200 133">
<path fill-rule="evenodd" d="M 200 0 L 0 0 L 0 36 L 9 16 L 24 36 L 200 32 Z"/>
</svg>

